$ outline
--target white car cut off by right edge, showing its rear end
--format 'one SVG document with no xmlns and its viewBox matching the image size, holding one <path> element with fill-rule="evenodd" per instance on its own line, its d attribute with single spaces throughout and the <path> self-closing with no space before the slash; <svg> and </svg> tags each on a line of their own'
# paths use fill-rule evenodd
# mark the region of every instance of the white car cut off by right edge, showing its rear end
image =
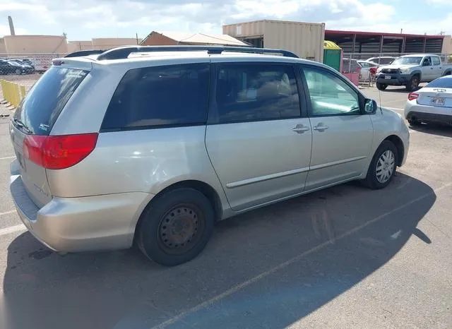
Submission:
<svg viewBox="0 0 452 329">
<path fill-rule="evenodd" d="M 452 76 L 437 78 L 424 88 L 410 92 L 405 119 L 412 126 L 422 122 L 452 125 Z"/>
</svg>

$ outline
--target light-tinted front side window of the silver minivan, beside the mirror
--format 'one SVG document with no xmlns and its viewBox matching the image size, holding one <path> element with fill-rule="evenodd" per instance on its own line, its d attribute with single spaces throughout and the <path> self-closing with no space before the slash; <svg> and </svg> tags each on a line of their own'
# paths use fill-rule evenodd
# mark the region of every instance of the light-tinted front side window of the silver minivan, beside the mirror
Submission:
<svg viewBox="0 0 452 329">
<path fill-rule="evenodd" d="M 338 76 L 318 68 L 304 67 L 311 98 L 311 116 L 360 114 L 359 96 Z"/>
</svg>

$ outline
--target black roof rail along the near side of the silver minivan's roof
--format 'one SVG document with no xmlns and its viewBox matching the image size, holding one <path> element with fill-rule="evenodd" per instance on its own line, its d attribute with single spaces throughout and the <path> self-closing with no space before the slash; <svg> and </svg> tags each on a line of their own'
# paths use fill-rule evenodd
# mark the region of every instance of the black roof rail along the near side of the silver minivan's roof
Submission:
<svg viewBox="0 0 452 329">
<path fill-rule="evenodd" d="M 208 54 L 222 52 L 244 52 L 251 54 L 281 54 L 285 57 L 299 58 L 296 54 L 283 49 L 268 49 L 234 46 L 124 46 L 109 49 L 97 56 L 98 61 L 105 59 L 126 59 L 133 52 L 199 52 L 206 50 Z"/>
</svg>

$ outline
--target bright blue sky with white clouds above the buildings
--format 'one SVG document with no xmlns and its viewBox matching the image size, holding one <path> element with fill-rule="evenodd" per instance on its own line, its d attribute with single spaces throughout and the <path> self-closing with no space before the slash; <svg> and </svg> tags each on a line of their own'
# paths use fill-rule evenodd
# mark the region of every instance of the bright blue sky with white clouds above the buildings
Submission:
<svg viewBox="0 0 452 329">
<path fill-rule="evenodd" d="M 69 40 L 145 37 L 152 30 L 221 33 L 256 19 L 326 23 L 327 29 L 452 33 L 452 0 L 0 0 L 0 36 L 62 35 Z"/>
</svg>

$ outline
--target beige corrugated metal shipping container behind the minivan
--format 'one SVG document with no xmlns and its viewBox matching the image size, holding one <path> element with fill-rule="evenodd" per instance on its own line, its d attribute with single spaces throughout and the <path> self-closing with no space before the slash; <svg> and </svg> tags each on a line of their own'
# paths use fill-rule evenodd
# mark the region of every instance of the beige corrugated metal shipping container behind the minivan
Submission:
<svg viewBox="0 0 452 329">
<path fill-rule="evenodd" d="M 325 23 L 255 20 L 223 25 L 223 34 L 254 47 L 285 49 L 303 59 L 323 61 Z"/>
</svg>

